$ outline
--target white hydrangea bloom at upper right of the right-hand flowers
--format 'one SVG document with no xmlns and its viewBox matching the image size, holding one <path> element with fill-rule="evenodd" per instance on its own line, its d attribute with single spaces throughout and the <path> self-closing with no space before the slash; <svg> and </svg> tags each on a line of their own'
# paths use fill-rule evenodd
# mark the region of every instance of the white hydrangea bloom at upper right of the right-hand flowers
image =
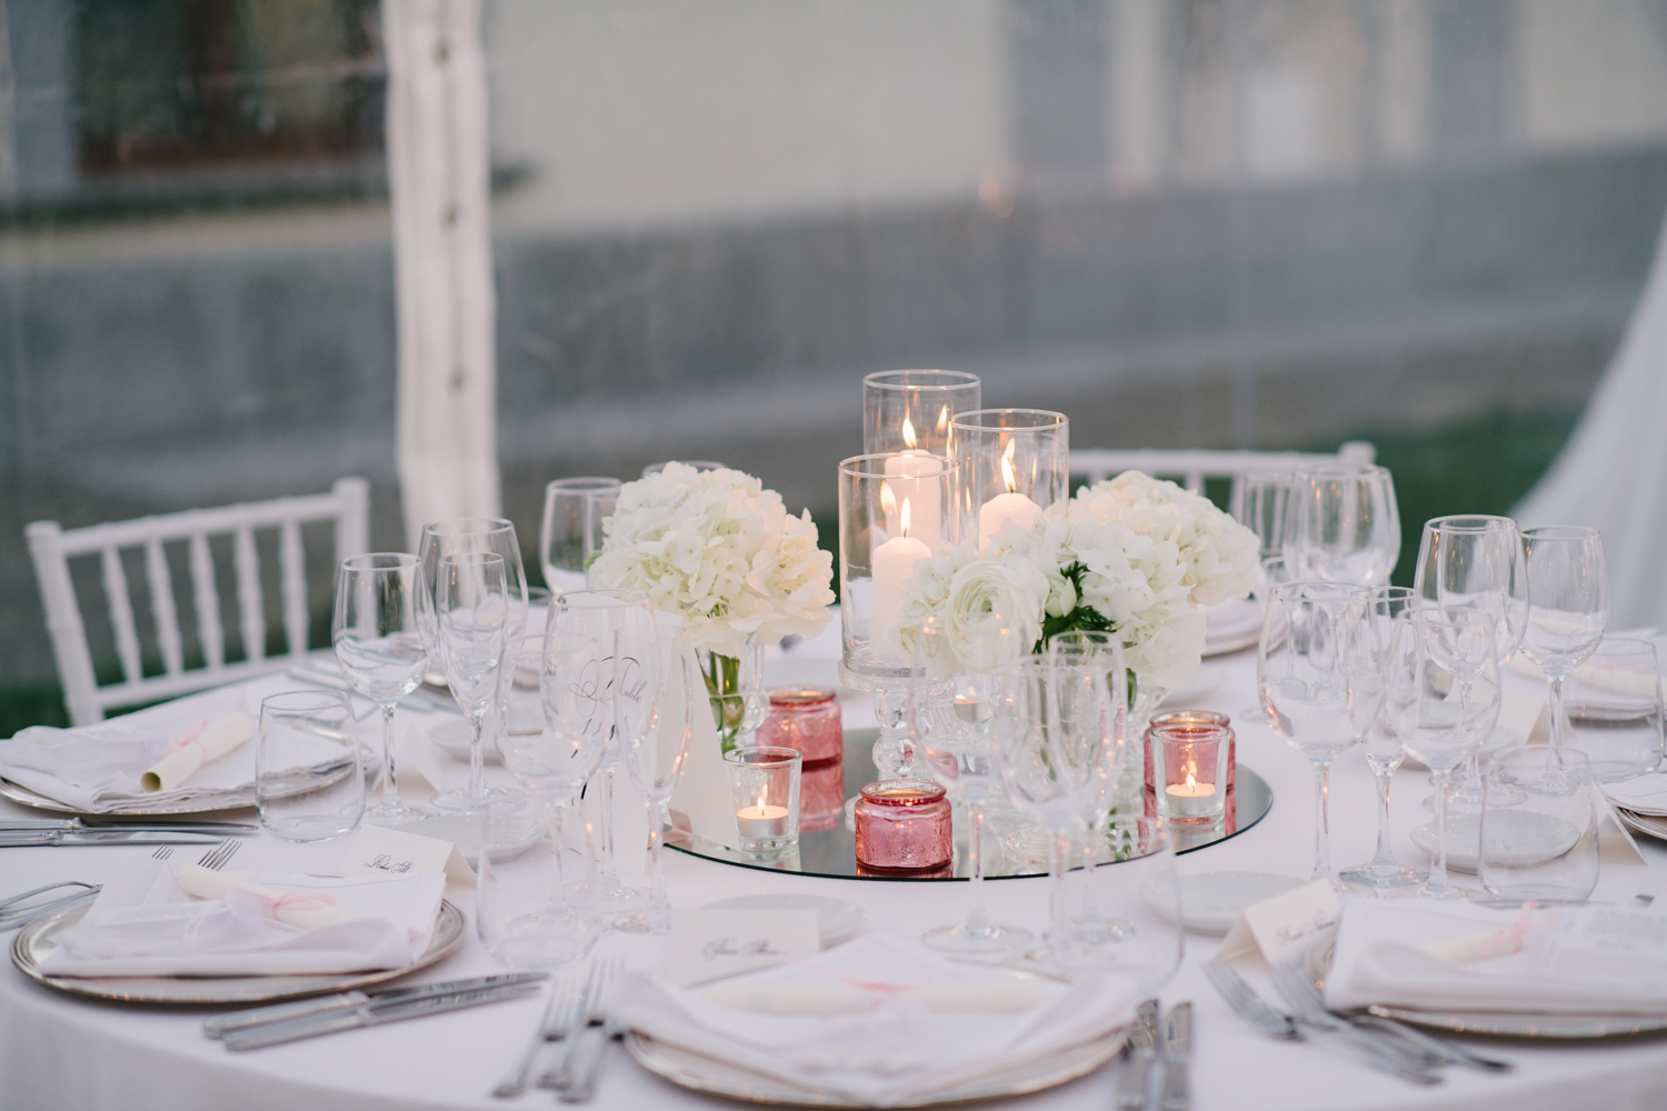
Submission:
<svg viewBox="0 0 1667 1111">
<path fill-rule="evenodd" d="M 1255 533 L 1197 493 L 1140 471 L 1124 471 L 1077 491 L 1065 511 L 1072 521 L 1127 525 L 1142 536 L 1180 550 L 1182 581 L 1194 605 L 1214 606 L 1250 593 L 1259 571 Z"/>
</svg>

